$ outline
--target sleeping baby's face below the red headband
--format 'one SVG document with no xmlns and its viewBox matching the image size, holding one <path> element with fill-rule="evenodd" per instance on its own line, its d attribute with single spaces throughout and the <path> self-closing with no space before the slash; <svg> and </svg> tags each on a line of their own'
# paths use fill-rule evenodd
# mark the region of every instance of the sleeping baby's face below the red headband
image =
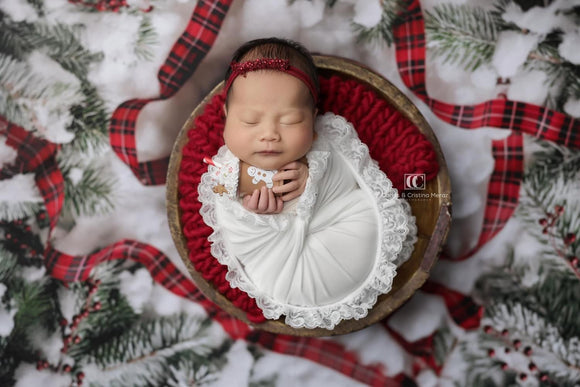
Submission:
<svg viewBox="0 0 580 387">
<path fill-rule="evenodd" d="M 315 116 L 301 80 L 280 71 L 248 72 L 232 84 L 224 141 L 240 160 L 280 169 L 310 150 Z"/>
</svg>

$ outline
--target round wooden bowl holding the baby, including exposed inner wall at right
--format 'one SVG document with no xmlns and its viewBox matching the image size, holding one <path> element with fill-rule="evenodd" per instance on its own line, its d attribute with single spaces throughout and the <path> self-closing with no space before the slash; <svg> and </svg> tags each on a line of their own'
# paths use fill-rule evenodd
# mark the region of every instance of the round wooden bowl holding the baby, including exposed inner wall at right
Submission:
<svg viewBox="0 0 580 387">
<path fill-rule="evenodd" d="M 234 317 L 252 325 L 254 328 L 295 336 L 333 336 L 350 333 L 387 317 L 405 303 L 413 295 L 415 290 L 419 289 L 427 280 L 429 271 L 437 261 L 441 247 L 447 238 L 451 221 L 451 183 L 449 181 L 445 158 L 443 157 L 435 134 L 417 107 L 389 81 L 360 63 L 345 58 L 324 55 L 314 55 L 314 61 L 321 75 L 340 75 L 343 78 L 355 79 L 374 90 L 380 98 L 384 98 L 391 106 L 413 122 L 421 133 L 433 144 L 439 163 L 439 173 L 434 179 L 427 182 L 424 190 L 405 192 L 408 197 L 407 201 L 411 205 L 413 214 L 417 219 L 418 241 L 415 244 L 411 258 L 397 270 L 391 291 L 378 298 L 377 303 L 365 318 L 360 320 L 344 320 L 333 330 L 323 328 L 292 328 L 284 323 L 284 317 L 279 320 L 267 320 L 261 324 L 253 324 L 248 321 L 246 313 L 243 310 L 234 306 L 193 267 L 193 264 L 189 260 L 189 251 L 183 234 L 181 211 L 179 208 L 178 175 L 182 159 L 182 149 L 188 141 L 187 132 L 189 130 L 195 130 L 193 125 L 195 118 L 203 112 L 205 105 L 211 98 L 221 91 L 223 82 L 217 85 L 204 98 L 181 128 L 173 151 L 171 152 L 167 174 L 166 202 L 171 235 L 181 259 L 185 263 L 198 288 L 219 307 Z M 428 199 L 425 199 L 425 196 L 428 196 Z"/>
</svg>

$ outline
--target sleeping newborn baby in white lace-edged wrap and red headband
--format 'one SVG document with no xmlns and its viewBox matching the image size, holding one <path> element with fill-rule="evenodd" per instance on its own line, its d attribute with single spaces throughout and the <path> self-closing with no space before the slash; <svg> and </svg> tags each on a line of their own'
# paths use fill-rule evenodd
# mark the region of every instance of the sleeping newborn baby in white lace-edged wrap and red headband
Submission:
<svg viewBox="0 0 580 387">
<path fill-rule="evenodd" d="M 293 327 L 365 317 L 412 252 L 408 204 L 350 123 L 316 117 L 316 68 L 302 46 L 246 43 L 224 92 L 225 145 L 198 191 L 226 279 Z"/>
</svg>

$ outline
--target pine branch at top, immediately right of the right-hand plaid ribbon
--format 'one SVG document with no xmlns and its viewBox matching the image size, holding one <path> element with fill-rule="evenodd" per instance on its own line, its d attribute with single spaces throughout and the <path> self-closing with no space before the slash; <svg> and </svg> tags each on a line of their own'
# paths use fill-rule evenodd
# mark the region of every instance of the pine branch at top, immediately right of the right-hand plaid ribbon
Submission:
<svg viewBox="0 0 580 387">
<path fill-rule="evenodd" d="M 459 63 L 473 71 L 490 63 L 505 22 L 493 11 L 468 5 L 441 4 L 425 11 L 428 47 L 444 63 Z"/>
</svg>

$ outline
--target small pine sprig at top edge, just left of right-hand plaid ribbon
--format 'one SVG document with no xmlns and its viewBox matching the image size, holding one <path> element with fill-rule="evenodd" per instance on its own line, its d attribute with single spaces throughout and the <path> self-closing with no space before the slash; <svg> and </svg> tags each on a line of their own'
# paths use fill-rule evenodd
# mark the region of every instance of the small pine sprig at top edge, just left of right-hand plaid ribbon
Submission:
<svg viewBox="0 0 580 387">
<path fill-rule="evenodd" d="M 371 44 L 386 42 L 390 46 L 395 41 L 393 27 L 400 20 L 400 13 L 405 10 L 405 3 L 405 0 L 382 0 L 381 19 L 373 27 L 352 22 L 351 28 L 357 35 L 357 42 Z"/>
</svg>

